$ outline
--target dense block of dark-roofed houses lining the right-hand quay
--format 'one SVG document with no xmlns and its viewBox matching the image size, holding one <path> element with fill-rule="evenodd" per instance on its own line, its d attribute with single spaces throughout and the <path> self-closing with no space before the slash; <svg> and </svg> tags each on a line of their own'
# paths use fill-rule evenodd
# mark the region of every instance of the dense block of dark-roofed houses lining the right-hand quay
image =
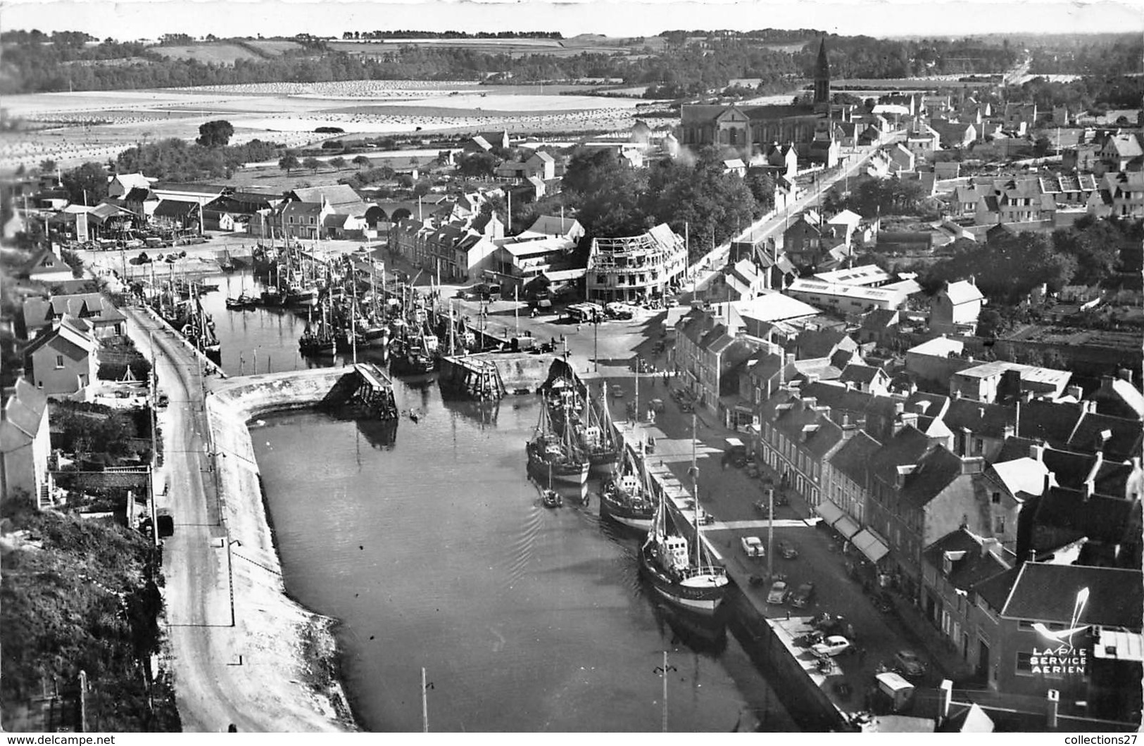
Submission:
<svg viewBox="0 0 1144 746">
<path fill-rule="evenodd" d="M 1091 681 L 1033 668 L 1030 633 L 1034 621 L 1060 629 L 1082 587 L 1141 581 L 1141 421 L 1098 406 L 804 382 L 763 399 L 752 430 L 760 458 L 866 557 L 872 581 L 912 598 L 983 683 L 1085 699 Z M 1055 593 L 1040 586 L 1049 577 Z M 1089 598 L 1082 624 L 1139 635 L 1138 587 Z"/>
</svg>

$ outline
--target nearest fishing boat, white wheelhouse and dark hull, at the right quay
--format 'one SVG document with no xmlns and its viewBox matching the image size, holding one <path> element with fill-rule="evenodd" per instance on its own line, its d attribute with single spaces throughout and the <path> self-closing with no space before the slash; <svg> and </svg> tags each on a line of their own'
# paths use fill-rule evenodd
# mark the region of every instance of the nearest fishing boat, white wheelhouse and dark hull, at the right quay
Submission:
<svg viewBox="0 0 1144 746">
<path fill-rule="evenodd" d="M 692 418 L 692 428 L 694 428 Z M 720 565 L 704 543 L 699 524 L 699 495 L 696 487 L 694 445 L 691 457 L 694 497 L 694 529 L 667 508 L 660 492 L 648 539 L 639 549 L 639 566 L 660 596 L 670 603 L 701 614 L 714 614 L 726 594 L 726 569 Z M 692 533 L 693 531 L 693 533 Z M 692 533 L 689 539 L 686 533 Z"/>
</svg>

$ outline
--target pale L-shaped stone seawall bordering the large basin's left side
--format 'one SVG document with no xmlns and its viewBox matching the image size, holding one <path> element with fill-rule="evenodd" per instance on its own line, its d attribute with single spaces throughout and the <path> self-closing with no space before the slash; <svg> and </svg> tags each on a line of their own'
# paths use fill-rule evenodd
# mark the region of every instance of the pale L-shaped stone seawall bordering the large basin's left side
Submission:
<svg viewBox="0 0 1144 746">
<path fill-rule="evenodd" d="M 265 712 L 289 712 L 323 730 L 357 730 L 337 676 L 334 620 L 287 595 L 247 422 L 267 412 L 320 404 L 345 375 L 355 375 L 353 368 L 216 380 L 206 398 L 235 621 L 245 633 L 243 657 L 228 665 L 260 669 L 255 678 L 264 690 L 255 699 L 265 703 Z"/>
</svg>

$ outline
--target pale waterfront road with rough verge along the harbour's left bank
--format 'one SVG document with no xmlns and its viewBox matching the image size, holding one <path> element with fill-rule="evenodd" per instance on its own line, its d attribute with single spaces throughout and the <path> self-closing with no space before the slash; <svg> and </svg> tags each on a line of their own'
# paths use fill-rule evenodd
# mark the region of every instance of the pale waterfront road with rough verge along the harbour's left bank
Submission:
<svg viewBox="0 0 1144 746">
<path fill-rule="evenodd" d="M 169 509 L 175 523 L 174 535 L 164 539 L 172 656 L 164 667 L 173 672 L 183 730 L 225 732 L 230 724 L 240 732 L 333 730 L 297 684 L 301 674 L 293 652 L 275 648 L 276 637 L 294 635 L 276 634 L 276 625 L 293 620 L 281 621 L 273 597 L 244 594 L 238 625 L 231 626 L 232 565 L 213 484 L 204 375 L 196 355 L 149 312 L 122 310 L 129 335 L 148 357 L 153 341 L 159 388 L 170 398 L 160 414 L 164 463 L 156 478 L 156 503 Z M 283 597 L 287 610 L 291 603 Z"/>
</svg>

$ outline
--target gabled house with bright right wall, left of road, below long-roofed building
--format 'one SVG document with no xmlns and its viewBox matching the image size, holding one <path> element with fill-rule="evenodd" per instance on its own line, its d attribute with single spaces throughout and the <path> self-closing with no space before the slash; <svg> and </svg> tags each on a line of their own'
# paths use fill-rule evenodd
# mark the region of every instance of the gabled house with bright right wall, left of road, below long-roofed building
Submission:
<svg viewBox="0 0 1144 746">
<path fill-rule="evenodd" d="M 84 400 L 96 381 L 98 349 L 87 322 L 64 316 L 24 350 L 27 378 L 49 399 Z"/>
</svg>

